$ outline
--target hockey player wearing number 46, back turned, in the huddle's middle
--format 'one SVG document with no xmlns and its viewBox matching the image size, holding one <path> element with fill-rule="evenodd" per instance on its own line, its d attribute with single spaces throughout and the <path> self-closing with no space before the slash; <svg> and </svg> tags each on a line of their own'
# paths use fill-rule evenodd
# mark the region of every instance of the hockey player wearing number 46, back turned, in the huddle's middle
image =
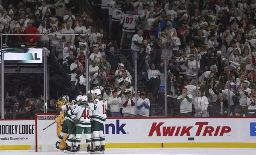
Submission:
<svg viewBox="0 0 256 155">
<path fill-rule="evenodd" d="M 80 151 L 81 136 L 84 133 L 87 144 L 87 152 L 90 150 L 91 144 L 91 121 L 90 121 L 90 107 L 86 103 L 88 101 L 87 96 L 77 96 L 78 104 L 74 105 L 74 108 L 68 111 L 69 115 L 73 116 L 74 123 L 76 124 L 76 152 Z"/>
</svg>

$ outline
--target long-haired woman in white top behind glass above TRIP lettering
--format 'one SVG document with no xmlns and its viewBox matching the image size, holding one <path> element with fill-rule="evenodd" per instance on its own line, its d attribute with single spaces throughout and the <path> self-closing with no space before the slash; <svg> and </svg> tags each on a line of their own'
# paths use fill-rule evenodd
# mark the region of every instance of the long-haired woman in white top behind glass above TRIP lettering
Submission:
<svg viewBox="0 0 256 155">
<path fill-rule="evenodd" d="M 194 98 L 195 117 L 208 117 L 208 99 L 202 90 L 198 90 L 198 98 Z"/>
</svg>

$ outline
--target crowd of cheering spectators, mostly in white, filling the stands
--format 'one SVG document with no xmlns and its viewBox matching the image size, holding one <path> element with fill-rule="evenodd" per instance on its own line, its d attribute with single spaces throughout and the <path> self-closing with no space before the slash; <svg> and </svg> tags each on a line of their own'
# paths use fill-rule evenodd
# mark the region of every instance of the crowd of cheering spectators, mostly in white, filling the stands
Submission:
<svg viewBox="0 0 256 155">
<path fill-rule="evenodd" d="M 149 116 L 147 93 L 160 106 L 165 91 L 169 116 L 256 116 L 255 0 L 102 0 L 101 27 L 85 12 L 72 14 L 65 1 L 55 2 L 54 15 L 46 1 L 35 11 L 10 4 L 0 28 L 79 36 L 6 36 L 2 44 L 47 47 L 80 95 L 88 84 L 88 55 L 89 85 L 102 90 L 108 116 Z M 122 28 L 128 12 L 136 15 L 132 31 Z M 120 53 L 132 70 L 120 63 Z M 134 91 L 135 70 L 146 91 Z"/>
</svg>

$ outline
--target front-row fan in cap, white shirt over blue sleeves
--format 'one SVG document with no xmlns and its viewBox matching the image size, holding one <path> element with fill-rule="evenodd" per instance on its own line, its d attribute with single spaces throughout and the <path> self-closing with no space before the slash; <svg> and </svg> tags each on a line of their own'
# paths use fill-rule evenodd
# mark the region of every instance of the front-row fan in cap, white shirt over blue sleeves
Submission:
<svg viewBox="0 0 256 155">
<path fill-rule="evenodd" d="M 141 98 L 137 101 L 138 117 L 149 117 L 150 101 L 144 91 L 140 95 Z"/>
</svg>

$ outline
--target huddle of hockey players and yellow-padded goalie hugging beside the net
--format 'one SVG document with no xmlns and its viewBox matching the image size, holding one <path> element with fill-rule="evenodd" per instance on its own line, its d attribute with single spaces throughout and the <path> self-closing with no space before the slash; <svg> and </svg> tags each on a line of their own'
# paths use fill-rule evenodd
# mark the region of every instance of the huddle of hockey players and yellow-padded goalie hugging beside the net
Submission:
<svg viewBox="0 0 256 155">
<path fill-rule="evenodd" d="M 81 136 L 85 134 L 87 152 L 105 153 L 103 129 L 107 118 L 107 100 L 101 98 L 100 89 L 89 91 L 87 96 L 77 96 L 76 102 L 69 102 L 68 95 L 64 95 L 56 102 L 56 106 L 56 111 L 60 112 L 55 119 L 59 125 L 58 140 L 55 144 L 58 150 L 68 154 L 78 153 Z"/>
</svg>

